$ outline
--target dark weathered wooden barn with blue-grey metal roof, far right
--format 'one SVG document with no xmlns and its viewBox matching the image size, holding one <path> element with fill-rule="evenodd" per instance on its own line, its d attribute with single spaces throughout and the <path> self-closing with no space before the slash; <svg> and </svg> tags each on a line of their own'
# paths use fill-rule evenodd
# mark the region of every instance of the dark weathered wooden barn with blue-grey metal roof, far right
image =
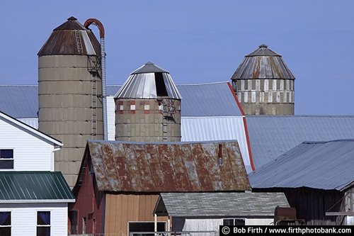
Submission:
<svg viewBox="0 0 354 236">
<path fill-rule="evenodd" d="M 252 191 L 283 192 L 307 225 L 353 225 L 354 140 L 302 142 L 249 174 Z"/>
</svg>

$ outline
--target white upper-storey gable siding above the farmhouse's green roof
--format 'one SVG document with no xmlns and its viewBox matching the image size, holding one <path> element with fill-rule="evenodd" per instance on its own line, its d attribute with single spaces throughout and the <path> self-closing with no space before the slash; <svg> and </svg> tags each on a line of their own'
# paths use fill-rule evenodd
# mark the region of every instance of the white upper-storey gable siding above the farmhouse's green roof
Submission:
<svg viewBox="0 0 354 236">
<path fill-rule="evenodd" d="M 52 170 L 52 143 L 0 119 L 0 149 L 6 148 L 13 149 L 13 168 L 16 171 Z"/>
</svg>

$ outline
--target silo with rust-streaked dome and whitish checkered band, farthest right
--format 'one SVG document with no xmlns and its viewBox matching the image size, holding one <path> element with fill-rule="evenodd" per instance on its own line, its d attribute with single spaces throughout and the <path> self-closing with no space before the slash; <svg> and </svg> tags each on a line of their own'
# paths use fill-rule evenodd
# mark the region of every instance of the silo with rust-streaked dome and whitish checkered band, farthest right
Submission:
<svg viewBox="0 0 354 236">
<path fill-rule="evenodd" d="M 231 79 L 246 115 L 294 115 L 295 77 L 267 45 L 246 55 Z"/>
</svg>

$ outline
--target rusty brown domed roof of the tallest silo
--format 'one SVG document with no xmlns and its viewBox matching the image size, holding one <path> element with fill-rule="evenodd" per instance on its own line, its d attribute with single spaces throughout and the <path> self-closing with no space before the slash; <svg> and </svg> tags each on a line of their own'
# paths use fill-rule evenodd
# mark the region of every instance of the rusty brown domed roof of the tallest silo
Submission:
<svg viewBox="0 0 354 236">
<path fill-rule="evenodd" d="M 92 31 L 72 16 L 53 30 L 38 52 L 43 55 L 101 55 L 101 45 Z"/>
</svg>

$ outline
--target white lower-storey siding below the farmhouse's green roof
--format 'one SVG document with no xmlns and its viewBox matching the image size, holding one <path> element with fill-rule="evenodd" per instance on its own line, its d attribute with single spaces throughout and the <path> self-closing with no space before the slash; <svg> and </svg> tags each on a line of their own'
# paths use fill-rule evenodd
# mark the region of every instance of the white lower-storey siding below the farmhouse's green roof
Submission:
<svg viewBox="0 0 354 236">
<path fill-rule="evenodd" d="M 11 235 L 35 236 L 37 211 L 50 211 L 50 235 L 67 235 L 67 203 L 1 204 L 0 211 L 11 211 Z"/>
</svg>

